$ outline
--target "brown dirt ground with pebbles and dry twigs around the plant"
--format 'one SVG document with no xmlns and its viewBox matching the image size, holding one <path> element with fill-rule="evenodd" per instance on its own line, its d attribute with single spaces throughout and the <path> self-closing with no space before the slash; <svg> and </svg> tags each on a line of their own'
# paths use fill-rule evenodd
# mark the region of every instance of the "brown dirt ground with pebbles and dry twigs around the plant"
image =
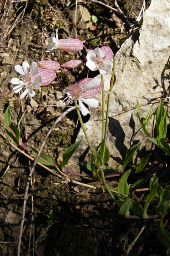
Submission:
<svg viewBox="0 0 170 256">
<path fill-rule="evenodd" d="M 80 1 L 88 10 L 89 18 L 83 23 L 77 9 L 77 35 L 86 47 L 97 47 L 104 42 L 116 53 L 130 34 L 123 26 L 122 17 L 93 1 Z M 80 4 L 78 2 L 78 6 Z M 113 1 L 103 0 L 111 7 Z M 119 0 L 120 8 L 132 27 L 143 0 Z M 150 1 L 146 1 L 149 6 Z M 45 53 L 45 41 L 58 27 L 59 38 L 76 37 L 74 0 L 25 0 L 0 2 L 0 113 L 10 104 L 11 119 L 17 123 L 26 111 L 27 143 L 39 149 L 54 120 L 65 111 L 62 93 L 52 87 L 43 87 L 33 102 L 22 103 L 12 92 L 9 83 L 16 76 L 15 64 L 43 59 L 65 63 L 79 58 L 83 52 Z M 91 21 L 92 15 L 98 19 Z M 72 73 L 73 81 L 85 78 L 87 70 Z M 67 84 L 67 80 L 65 81 Z M 65 148 L 74 143 L 77 115 L 72 111 L 54 128 L 44 152 L 60 163 Z M 0 255 L 17 255 L 23 196 L 32 161 L 6 142 L 7 134 L 0 123 Z M 26 142 L 22 122 L 22 138 Z M 78 160 L 77 160 L 78 161 Z M 77 165 L 78 166 L 78 165 Z M 126 219 L 101 185 L 93 178 L 73 177 L 99 189 L 94 191 L 73 183 L 64 183 L 55 175 L 36 166 L 28 192 L 26 217 L 20 255 L 37 256 L 164 256 L 166 248 L 155 233 L 154 220 Z M 115 183 L 115 180 L 111 180 Z M 143 234 L 130 247 L 142 227 Z"/>
</svg>

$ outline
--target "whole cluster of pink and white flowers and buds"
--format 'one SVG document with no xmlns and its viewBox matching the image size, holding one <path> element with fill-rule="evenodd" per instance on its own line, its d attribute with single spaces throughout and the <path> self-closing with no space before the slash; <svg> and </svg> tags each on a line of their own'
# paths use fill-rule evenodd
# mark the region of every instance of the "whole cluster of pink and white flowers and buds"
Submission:
<svg viewBox="0 0 170 256">
<path fill-rule="evenodd" d="M 51 52 L 54 49 L 60 49 L 66 52 L 81 51 L 84 47 L 83 42 L 76 38 L 58 39 L 58 29 L 56 34 L 52 33 L 49 39 L 50 44 L 47 46 L 46 52 Z M 85 48 L 86 49 L 86 48 Z M 110 47 L 102 46 L 96 49 L 86 49 L 87 55 L 85 57 L 86 66 L 94 71 L 99 70 L 101 75 L 108 74 L 112 67 L 113 52 Z M 32 62 L 31 67 L 28 62 L 23 61 L 22 66 L 15 65 L 14 69 L 21 75 L 21 78 L 16 77 L 11 79 L 11 84 L 16 86 L 12 89 L 14 93 L 20 92 L 20 99 L 23 99 L 27 94 L 31 99 L 35 95 L 35 89 L 50 85 L 58 76 L 59 72 L 69 76 L 68 70 L 80 67 L 85 63 L 82 59 L 74 59 L 67 61 L 60 65 L 57 61 L 38 61 Z M 73 101 L 78 101 L 79 110 L 82 115 L 90 113 L 87 104 L 90 107 L 96 108 L 99 102 L 93 97 L 99 93 L 101 89 L 101 82 L 97 78 L 86 78 L 78 81 L 75 84 L 69 84 L 65 93 L 67 97 L 64 99 L 66 105 L 71 104 Z"/>
</svg>

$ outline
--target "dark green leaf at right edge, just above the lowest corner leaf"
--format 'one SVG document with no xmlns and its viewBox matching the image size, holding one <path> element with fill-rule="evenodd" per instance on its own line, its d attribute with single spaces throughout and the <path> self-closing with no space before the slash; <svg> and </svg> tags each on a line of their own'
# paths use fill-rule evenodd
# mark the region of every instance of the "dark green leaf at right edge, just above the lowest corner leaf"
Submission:
<svg viewBox="0 0 170 256">
<path fill-rule="evenodd" d="M 161 190 L 161 195 L 159 198 L 159 204 L 156 207 L 156 212 L 163 216 L 168 208 L 170 208 L 170 185 L 168 185 L 165 189 Z"/>
</svg>

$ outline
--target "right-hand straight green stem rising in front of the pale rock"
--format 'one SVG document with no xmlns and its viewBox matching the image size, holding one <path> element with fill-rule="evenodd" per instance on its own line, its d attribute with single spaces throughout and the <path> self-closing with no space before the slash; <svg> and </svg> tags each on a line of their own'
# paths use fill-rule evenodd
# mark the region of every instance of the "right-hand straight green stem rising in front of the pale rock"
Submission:
<svg viewBox="0 0 170 256">
<path fill-rule="evenodd" d="M 108 134 L 109 105 L 110 105 L 111 92 L 112 92 L 112 89 L 113 89 L 114 75 L 115 75 L 115 58 L 113 57 L 113 72 L 112 72 L 112 78 L 111 78 L 109 93 L 108 93 L 106 121 L 105 121 L 105 135 L 104 135 L 103 148 L 102 148 L 102 161 L 104 160 L 105 149 L 106 149 L 106 140 L 107 140 L 107 134 Z"/>
</svg>

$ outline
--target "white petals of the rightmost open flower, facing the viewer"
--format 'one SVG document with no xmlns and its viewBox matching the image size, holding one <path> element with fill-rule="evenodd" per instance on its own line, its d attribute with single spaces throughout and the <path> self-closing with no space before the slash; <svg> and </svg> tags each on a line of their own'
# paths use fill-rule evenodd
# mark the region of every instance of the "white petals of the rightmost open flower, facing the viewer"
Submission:
<svg viewBox="0 0 170 256">
<path fill-rule="evenodd" d="M 86 66 L 92 71 L 99 70 L 101 75 L 106 75 L 112 67 L 111 59 L 105 59 L 106 53 L 99 47 L 89 50 L 86 58 Z"/>
</svg>

